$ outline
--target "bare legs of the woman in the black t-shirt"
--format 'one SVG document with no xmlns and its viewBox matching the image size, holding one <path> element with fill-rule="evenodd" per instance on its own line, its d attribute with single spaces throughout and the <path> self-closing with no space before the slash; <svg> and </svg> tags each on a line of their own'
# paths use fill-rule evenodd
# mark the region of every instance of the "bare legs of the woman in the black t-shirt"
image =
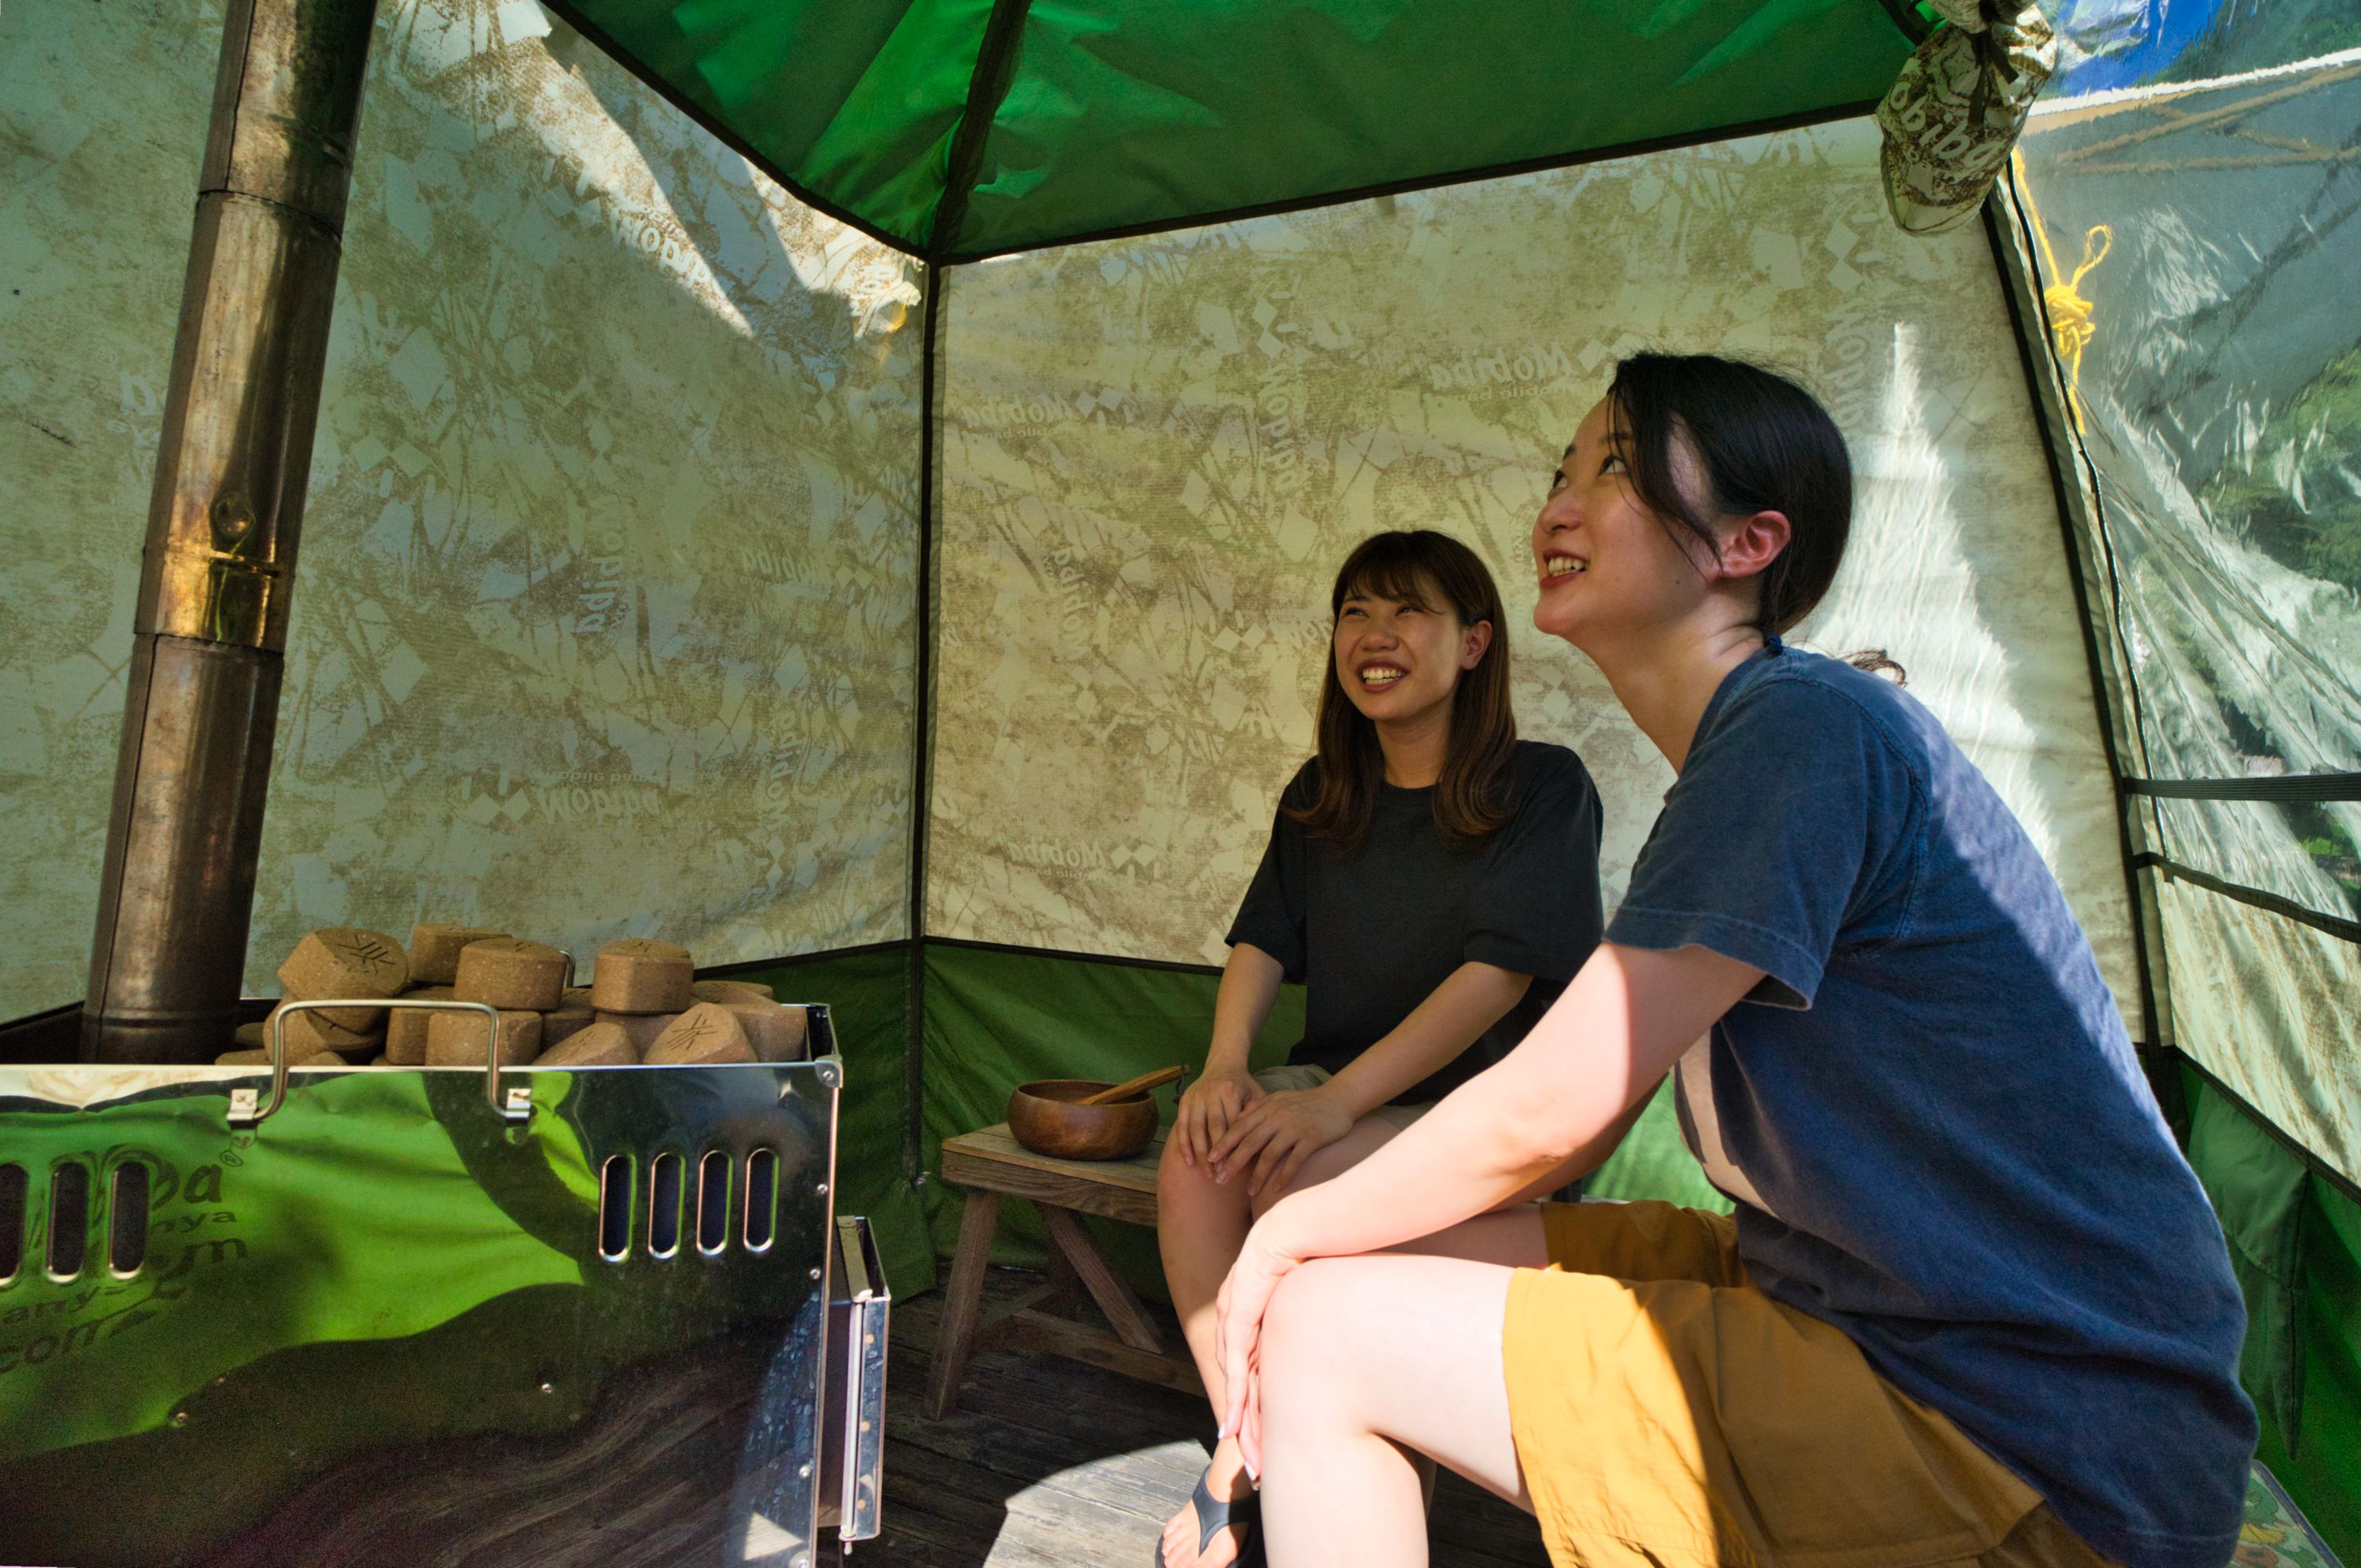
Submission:
<svg viewBox="0 0 2361 1568">
<path fill-rule="evenodd" d="M 1303 1162 L 1294 1188 L 1327 1181 L 1339 1171 L 1367 1159 L 1386 1138 L 1395 1133 L 1391 1122 L 1362 1117 L 1336 1143 Z M 1228 1183 L 1214 1181 L 1214 1171 L 1188 1164 L 1173 1143 L 1164 1145 L 1164 1162 L 1157 1167 L 1157 1252 L 1164 1254 L 1164 1285 L 1171 1289 L 1173 1311 L 1180 1318 L 1180 1334 L 1188 1339 L 1190 1358 L 1204 1379 L 1204 1391 L 1214 1403 L 1216 1419 L 1223 1410 L 1221 1384 L 1221 1325 L 1214 1315 L 1214 1299 L 1221 1282 L 1230 1278 L 1230 1263 L 1247 1244 L 1247 1228 L 1261 1209 L 1280 1200 L 1280 1193 L 1251 1197 L 1242 1176 Z M 1240 1459 L 1237 1440 L 1214 1448 L 1206 1488 L 1216 1497 L 1247 1497 L 1254 1483 Z M 1164 1525 L 1164 1561 L 1171 1568 L 1197 1563 L 1197 1509 L 1183 1507 Z M 1232 1561 L 1228 1535 L 1206 1544 L 1204 1568 L 1221 1568 Z"/>
</svg>

